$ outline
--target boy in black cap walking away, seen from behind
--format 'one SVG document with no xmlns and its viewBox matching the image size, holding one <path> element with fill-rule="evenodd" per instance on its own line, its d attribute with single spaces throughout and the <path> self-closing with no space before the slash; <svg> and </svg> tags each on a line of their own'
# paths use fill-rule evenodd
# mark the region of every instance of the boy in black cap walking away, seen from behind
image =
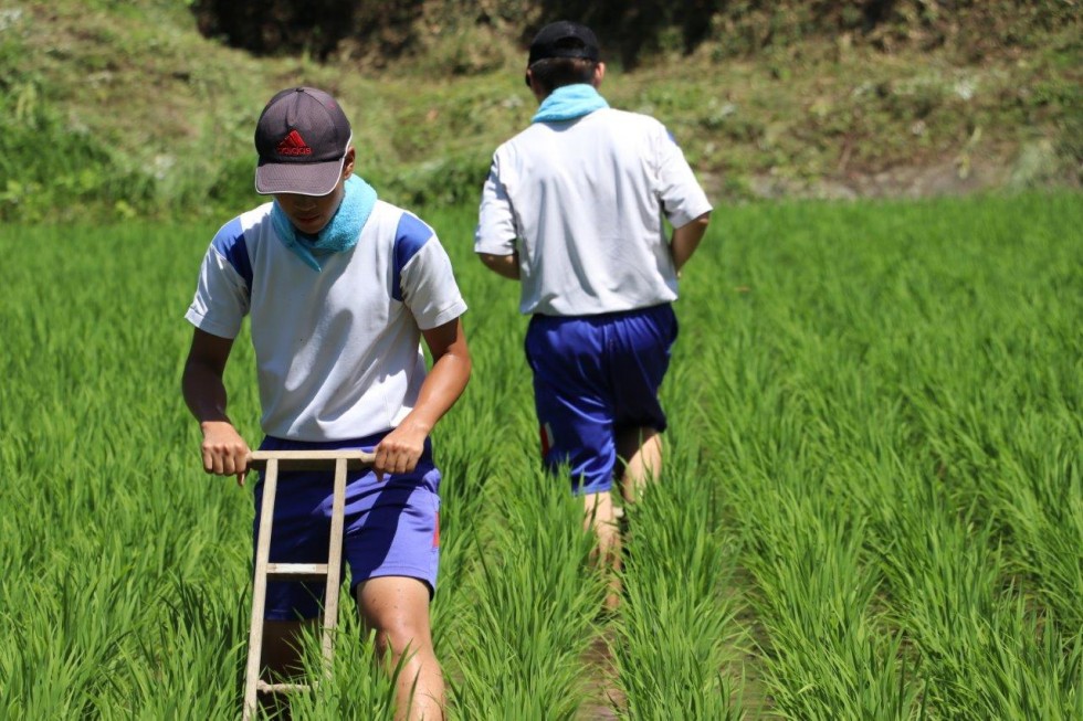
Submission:
<svg viewBox="0 0 1083 721">
<path fill-rule="evenodd" d="M 609 107 L 604 76 L 589 28 L 560 21 L 535 36 L 525 79 L 540 105 L 493 156 L 474 251 L 522 284 L 543 460 L 569 468 L 599 553 L 619 568 L 610 489 L 619 476 L 632 502 L 661 473 L 671 304 L 712 208 L 661 123 Z"/>
</svg>

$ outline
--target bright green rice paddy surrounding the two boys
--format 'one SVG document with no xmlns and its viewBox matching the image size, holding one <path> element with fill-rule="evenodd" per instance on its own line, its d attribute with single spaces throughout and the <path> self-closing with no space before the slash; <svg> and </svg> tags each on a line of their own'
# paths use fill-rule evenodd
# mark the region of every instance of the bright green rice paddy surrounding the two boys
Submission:
<svg viewBox="0 0 1083 721">
<path fill-rule="evenodd" d="M 475 361 L 434 439 L 450 718 L 1083 718 L 1080 194 L 717 209 L 613 615 L 516 286 L 473 208 L 422 215 Z M 215 230 L 0 227 L 0 718 L 240 717 L 251 485 L 202 473 L 179 385 Z M 295 718 L 390 718 L 345 621 Z"/>
</svg>

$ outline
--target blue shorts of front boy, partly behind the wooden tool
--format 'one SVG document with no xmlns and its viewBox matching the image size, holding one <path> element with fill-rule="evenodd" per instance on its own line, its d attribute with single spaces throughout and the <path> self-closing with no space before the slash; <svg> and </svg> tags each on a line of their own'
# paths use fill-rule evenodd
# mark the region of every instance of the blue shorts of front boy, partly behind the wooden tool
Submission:
<svg viewBox="0 0 1083 721">
<path fill-rule="evenodd" d="M 360 448 L 371 450 L 386 434 L 303 443 L 267 436 L 261 450 L 320 450 Z M 271 533 L 271 562 L 325 563 L 330 542 L 334 474 L 288 471 L 278 474 Z M 411 474 L 389 475 L 377 483 L 371 470 L 346 477 L 346 515 L 343 560 L 349 565 L 350 592 L 376 576 L 401 575 L 437 587 L 440 560 L 440 471 L 432 463 L 432 445 Z M 255 486 L 253 548 L 257 542 L 263 478 Z M 253 554 L 254 558 L 254 554 Z M 318 582 L 273 581 L 267 583 L 264 618 L 295 621 L 319 615 L 324 586 Z"/>
</svg>

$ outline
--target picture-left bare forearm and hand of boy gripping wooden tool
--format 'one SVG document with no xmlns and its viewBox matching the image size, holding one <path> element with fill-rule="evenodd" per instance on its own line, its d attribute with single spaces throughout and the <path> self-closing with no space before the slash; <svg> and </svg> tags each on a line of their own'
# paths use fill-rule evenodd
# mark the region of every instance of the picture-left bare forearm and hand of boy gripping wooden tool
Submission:
<svg viewBox="0 0 1083 721">
<path fill-rule="evenodd" d="M 231 338 L 219 338 L 194 330 L 192 344 L 185 362 L 181 390 L 185 403 L 203 432 L 200 452 L 203 470 L 220 476 L 236 476 L 244 485 L 248 474 L 249 446 L 225 413 L 227 393 L 222 382 L 225 361 L 233 348 Z"/>
</svg>

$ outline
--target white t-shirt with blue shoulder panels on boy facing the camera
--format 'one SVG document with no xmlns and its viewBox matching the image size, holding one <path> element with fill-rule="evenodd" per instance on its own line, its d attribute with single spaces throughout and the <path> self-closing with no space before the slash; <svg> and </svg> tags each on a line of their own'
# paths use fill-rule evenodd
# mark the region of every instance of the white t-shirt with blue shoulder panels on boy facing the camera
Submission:
<svg viewBox="0 0 1083 721">
<path fill-rule="evenodd" d="M 448 254 L 416 215 L 377 201 L 357 245 L 322 256 L 316 272 L 278 238 L 271 208 L 218 232 L 186 318 L 235 338 L 250 316 L 267 435 L 340 441 L 395 427 L 425 377 L 421 329 L 466 310 Z"/>
</svg>

